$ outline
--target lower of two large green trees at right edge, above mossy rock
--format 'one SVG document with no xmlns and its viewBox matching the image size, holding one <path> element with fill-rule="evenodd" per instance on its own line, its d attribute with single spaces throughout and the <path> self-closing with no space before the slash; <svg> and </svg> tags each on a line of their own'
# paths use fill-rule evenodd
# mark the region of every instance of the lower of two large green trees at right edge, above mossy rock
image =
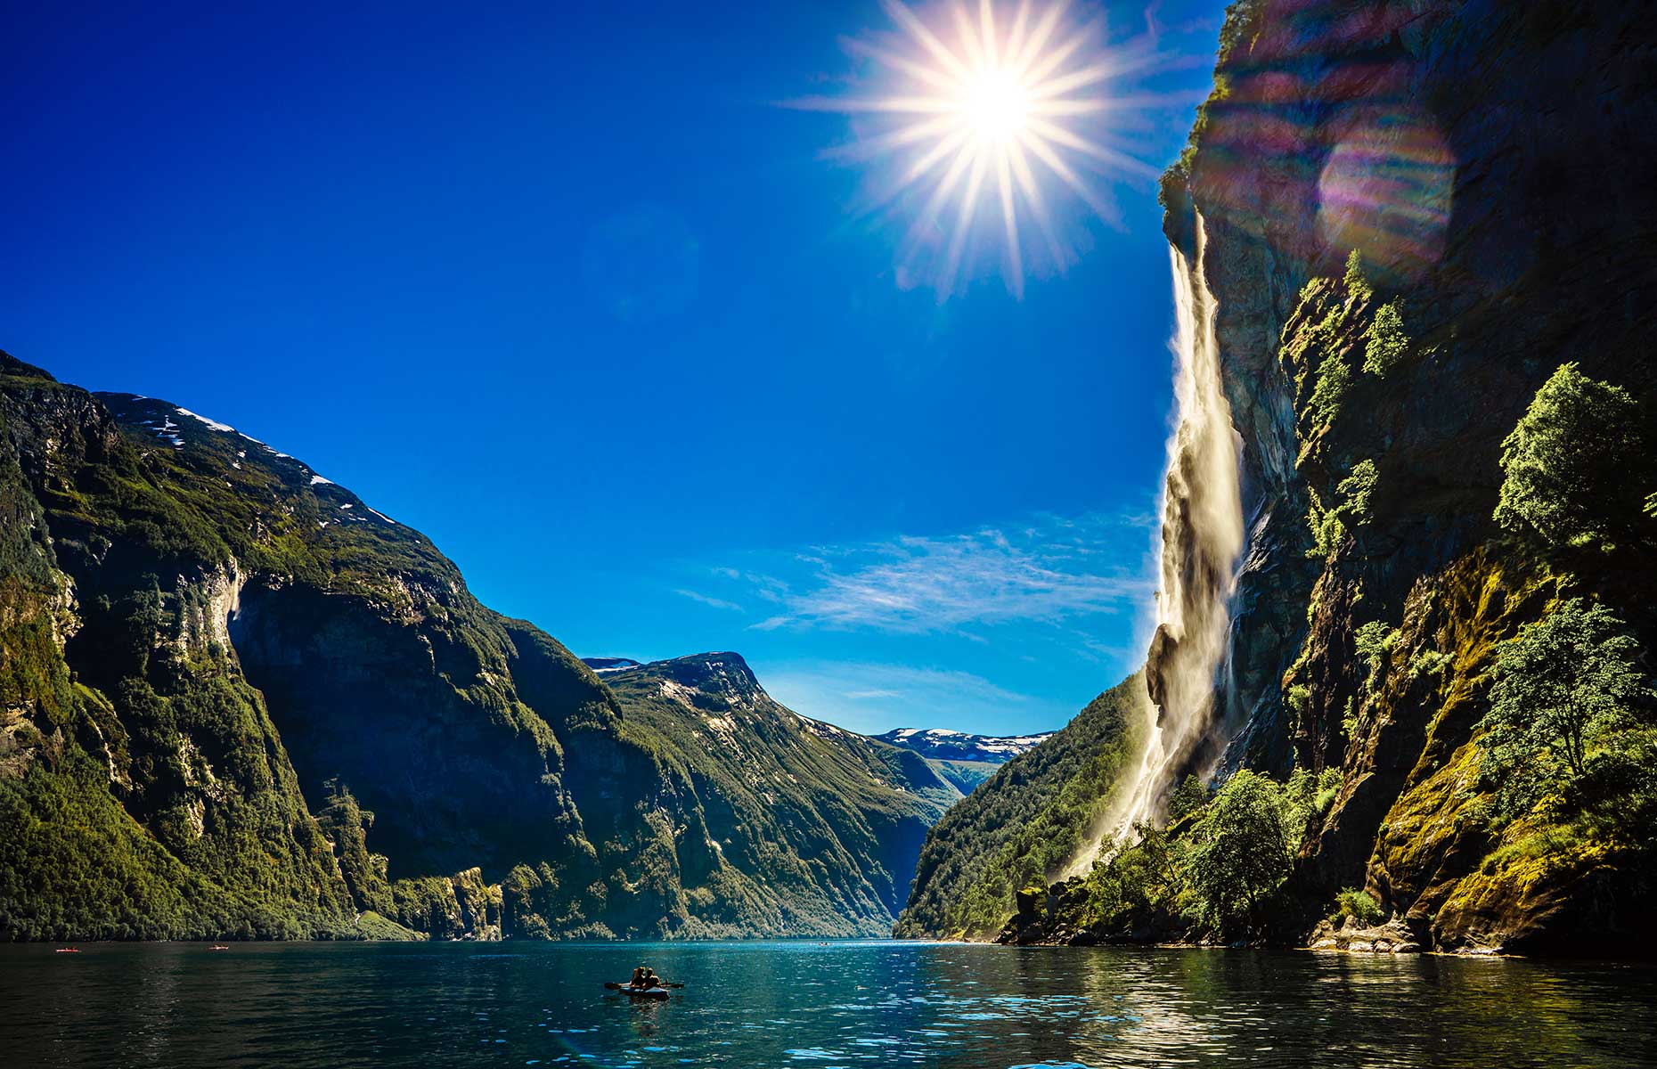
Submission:
<svg viewBox="0 0 1657 1069">
<path fill-rule="evenodd" d="M 1496 648 L 1480 746 L 1498 814 L 1521 815 L 1568 792 L 1596 751 L 1629 739 L 1650 694 L 1637 656 L 1622 622 L 1586 598 L 1561 603 Z"/>
</svg>

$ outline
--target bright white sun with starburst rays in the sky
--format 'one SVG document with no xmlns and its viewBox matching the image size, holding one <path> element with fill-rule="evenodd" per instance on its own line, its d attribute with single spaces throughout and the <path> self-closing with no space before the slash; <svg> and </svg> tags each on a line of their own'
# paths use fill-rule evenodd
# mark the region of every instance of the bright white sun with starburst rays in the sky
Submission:
<svg viewBox="0 0 1657 1069">
<path fill-rule="evenodd" d="M 1072 262 L 1072 206 L 1120 225 L 1109 181 L 1157 177 L 1110 124 L 1145 103 L 1120 83 L 1157 65 L 1153 40 L 1109 48 L 1104 17 L 1077 27 L 1065 0 L 882 7 L 893 28 L 847 41 L 877 91 L 790 103 L 855 116 L 835 156 L 893 164 L 878 171 L 870 207 L 908 220 L 900 282 L 930 283 L 943 300 L 988 254 L 1022 297 L 1032 260 Z"/>
</svg>

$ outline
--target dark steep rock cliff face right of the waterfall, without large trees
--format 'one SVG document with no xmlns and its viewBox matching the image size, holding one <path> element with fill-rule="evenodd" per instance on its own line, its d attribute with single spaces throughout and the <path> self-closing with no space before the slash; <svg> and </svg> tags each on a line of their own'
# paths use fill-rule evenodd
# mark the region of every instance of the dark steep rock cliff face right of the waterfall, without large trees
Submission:
<svg viewBox="0 0 1657 1069">
<path fill-rule="evenodd" d="M 1621 3 L 1229 13 L 1163 192 L 1170 240 L 1206 227 L 1244 443 L 1228 764 L 1344 779 L 1291 882 L 1307 918 L 1367 885 L 1438 946 L 1640 926 L 1632 855 L 1514 862 L 1473 738 L 1495 643 L 1563 593 L 1657 635 L 1645 535 L 1548 554 L 1491 520 L 1501 443 L 1561 363 L 1654 396 L 1654 40 Z M 1374 678 L 1365 623 L 1394 635 Z"/>
</svg>

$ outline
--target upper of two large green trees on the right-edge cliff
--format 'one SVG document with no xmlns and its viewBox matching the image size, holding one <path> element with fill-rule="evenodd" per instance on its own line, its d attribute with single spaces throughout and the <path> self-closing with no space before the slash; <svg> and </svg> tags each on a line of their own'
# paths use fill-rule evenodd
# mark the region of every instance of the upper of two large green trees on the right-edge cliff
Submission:
<svg viewBox="0 0 1657 1069">
<path fill-rule="evenodd" d="M 1627 534 L 1649 486 L 1640 428 L 1627 389 L 1559 365 L 1501 443 L 1496 522 L 1549 545 Z"/>
</svg>

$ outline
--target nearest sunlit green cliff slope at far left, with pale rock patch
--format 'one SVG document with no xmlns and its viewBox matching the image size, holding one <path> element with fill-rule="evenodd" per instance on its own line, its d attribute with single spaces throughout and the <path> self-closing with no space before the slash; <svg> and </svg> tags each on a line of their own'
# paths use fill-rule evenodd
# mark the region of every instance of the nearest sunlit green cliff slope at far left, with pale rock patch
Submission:
<svg viewBox="0 0 1657 1069">
<path fill-rule="evenodd" d="M 0 355 L 0 930 L 353 935 L 268 709 L 207 623 L 234 557 L 171 505 L 172 476 L 94 398 Z"/>
</svg>

